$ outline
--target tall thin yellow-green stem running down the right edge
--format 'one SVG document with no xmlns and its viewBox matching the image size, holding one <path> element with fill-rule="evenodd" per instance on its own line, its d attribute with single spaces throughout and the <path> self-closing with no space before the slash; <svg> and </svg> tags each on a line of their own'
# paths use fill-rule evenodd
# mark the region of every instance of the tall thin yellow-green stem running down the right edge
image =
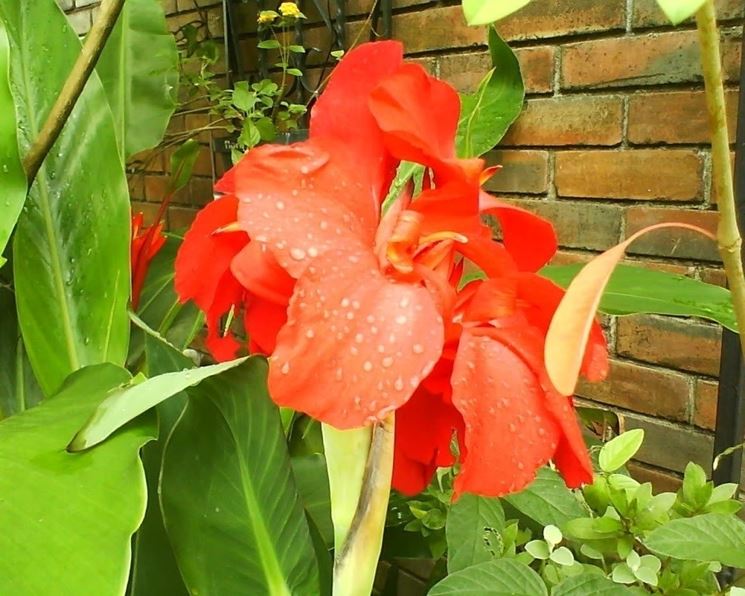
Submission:
<svg viewBox="0 0 745 596">
<path fill-rule="evenodd" d="M 707 0 L 696 13 L 696 25 L 701 45 L 701 66 L 706 89 L 706 105 L 709 111 L 709 128 L 712 135 L 711 158 L 714 189 L 717 193 L 719 207 L 717 241 L 724 271 L 727 274 L 727 282 L 732 292 L 735 318 L 741 331 L 740 347 L 745 354 L 745 272 L 742 265 L 742 238 L 737 227 L 722 80 L 722 59 L 719 53 L 719 30 L 714 0 Z"/>
</svg>

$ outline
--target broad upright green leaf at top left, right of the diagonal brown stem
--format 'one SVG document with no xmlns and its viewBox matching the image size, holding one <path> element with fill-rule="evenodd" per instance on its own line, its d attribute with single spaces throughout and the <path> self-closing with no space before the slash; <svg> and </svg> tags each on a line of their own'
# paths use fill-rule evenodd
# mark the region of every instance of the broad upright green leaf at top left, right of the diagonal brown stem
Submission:
<svg viewBox="0 0 745 596">
<path fill-rule="evenodd" d="M 127 0 L 96 65 L 123 159 L 163 138 L 176 109 L 178 64 L 162 3 Z"/>
</svg>

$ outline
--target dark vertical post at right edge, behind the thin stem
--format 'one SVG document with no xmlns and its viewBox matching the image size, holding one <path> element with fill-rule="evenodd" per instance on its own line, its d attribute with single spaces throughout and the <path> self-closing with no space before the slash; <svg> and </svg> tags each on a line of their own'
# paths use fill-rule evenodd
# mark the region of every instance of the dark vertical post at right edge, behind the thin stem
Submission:
<svg viewBox="0 0 745 596">
<path fill-rule="evenodd" d="M 745 50 L 745 36 L 743 37 Z M 740 89 L 745 89 L 745 60 L 740 64 Z M 737 142 L 735 153 L 735 201 L 740 233 L 745 236 L 745 93 L 740 93 L 737 110 Z M 745 333 L 745 329 L 741 329 Z M 714 456 L 745 440 L 745 361 L 736 333 L 724 330 L 722 363 L 719 368 L 717 422 L 714 431 Z M 714 470 L 716 484 L 740 483 L 742 450 L 722 458 Z"/>
</svg>

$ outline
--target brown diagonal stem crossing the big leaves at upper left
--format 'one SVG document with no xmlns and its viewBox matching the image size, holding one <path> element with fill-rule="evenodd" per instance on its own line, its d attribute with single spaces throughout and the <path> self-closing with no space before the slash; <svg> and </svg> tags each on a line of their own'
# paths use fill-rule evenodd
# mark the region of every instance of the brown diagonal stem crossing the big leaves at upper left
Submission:
<svg viewBox="0 0 745 596">
<path fill-rule="evenodd" d="M 124 0 L 103 0 L 101 2 L 99 17 L 93 23 L 93 27 L 85 38 L 80 55 L 72 67 L 60 94 L 57 96 L 57 100 L 54 102 L 41 132 L 39 132 L 39 136 L 23 159 L 23 168 L 26 170 L 29 188 L 34 178 L 36 178 L 44 158 L 59 138 L 65 122 L 70 117 L 80 94 L 85 88 L 85 84 L 93 73 L 123 6 Z"/>
</svg>

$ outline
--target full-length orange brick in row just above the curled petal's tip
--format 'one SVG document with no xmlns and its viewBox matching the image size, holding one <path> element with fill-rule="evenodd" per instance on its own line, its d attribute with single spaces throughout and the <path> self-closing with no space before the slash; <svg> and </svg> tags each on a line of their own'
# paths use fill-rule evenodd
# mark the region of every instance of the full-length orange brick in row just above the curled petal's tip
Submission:
<svg viewBox="0 0 745 596">
<path fill-rule="evenodd" d="M 690 150 L 564 151 L 556 154 L 556 190 L 563 197 L 697 201 L 703 161 Z"/>
</svg>

